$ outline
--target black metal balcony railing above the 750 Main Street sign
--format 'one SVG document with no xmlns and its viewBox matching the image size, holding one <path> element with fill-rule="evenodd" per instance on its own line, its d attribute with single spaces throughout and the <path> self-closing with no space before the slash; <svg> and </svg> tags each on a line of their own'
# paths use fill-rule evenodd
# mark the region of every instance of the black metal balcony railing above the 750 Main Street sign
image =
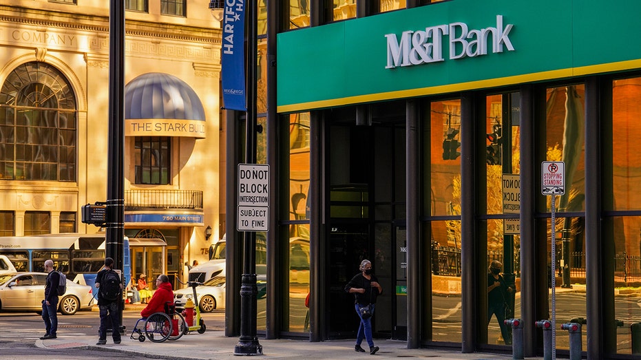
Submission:
<svg viewBox="0 0 641 360">
<path fill-rule="evenodd" d="M 125 209 L 198 209 L 202 210 L 202 191 L 127 190 Z"/>
</svg>

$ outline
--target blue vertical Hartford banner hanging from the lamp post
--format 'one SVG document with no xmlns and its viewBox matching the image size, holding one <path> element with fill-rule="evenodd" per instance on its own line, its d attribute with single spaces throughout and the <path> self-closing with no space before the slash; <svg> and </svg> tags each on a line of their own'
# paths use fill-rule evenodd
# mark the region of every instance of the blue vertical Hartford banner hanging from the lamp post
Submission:
<svg viewBox="0 0 641 360">
<path fill-rule="evenodd" d="M 247 110 L 244 73 L 244 0 L 225 0 L 222 24 L 222 102 L 228 110 Z"/>
</svg>

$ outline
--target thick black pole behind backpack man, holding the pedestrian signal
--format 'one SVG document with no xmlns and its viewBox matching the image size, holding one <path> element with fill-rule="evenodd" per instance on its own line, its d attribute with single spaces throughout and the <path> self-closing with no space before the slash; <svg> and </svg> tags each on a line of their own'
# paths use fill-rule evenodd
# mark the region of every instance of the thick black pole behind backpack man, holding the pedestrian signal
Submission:
<svg viewBox="0 0 641 360">
<path fill-rule="evenodd" d="M 125 241 L 125 3 L 109 3 L 109 131 L 107 149 L 107 233 L 105 255 L 123 270 Z M 124 274 L 123 274 L 124 275 Z M 120 332 L 124 301 L 118 301 Z M 112 328 L 113 329 L 113 328 Z M 115 330 L 115 329 L 114 329 Z"/>
</svg>

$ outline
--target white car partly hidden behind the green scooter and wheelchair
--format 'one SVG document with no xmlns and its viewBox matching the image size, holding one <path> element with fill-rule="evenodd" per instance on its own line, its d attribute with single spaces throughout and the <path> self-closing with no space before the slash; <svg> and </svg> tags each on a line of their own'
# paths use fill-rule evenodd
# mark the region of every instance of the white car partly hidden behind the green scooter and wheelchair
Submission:
<svg viewBox="0 0 641 360">
<path fill-rule="evenodd" d="M 204 284 L 196 286 L 196 295 L 198 296 L 198 305 L 202 313 L 211 313 L 214 309 L 224 309 L 225 277 L 212 277 Z M 188 286 L 174 291 L 176 308 L 185 308 L 187 299 L 193 301 L 193 289 L 191 287 Z"/>
</svg>

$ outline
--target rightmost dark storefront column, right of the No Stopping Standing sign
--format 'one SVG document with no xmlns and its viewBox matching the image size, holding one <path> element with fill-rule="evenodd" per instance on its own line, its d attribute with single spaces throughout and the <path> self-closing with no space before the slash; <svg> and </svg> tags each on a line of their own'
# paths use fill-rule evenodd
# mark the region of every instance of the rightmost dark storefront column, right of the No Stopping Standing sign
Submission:
<svg viewBox="0 0 641 360">
<path fill-rule="evenodd" d="M 585 143 L 590 144 L 585 147 L 585 268 L 587 271 L 585 280 L 588 359 L 603 359 L 606 354 L 616 353 L 616 324 L 612 296 L 614 291 L 612 259 L 615 251 L 611 239 L 603 241 L 601 235 L 601 197 L 608 193 L 607 189 L 602 189 L 601 153 L 611 154 L 611 150 L 601 151 L 601 145 L 608 142 L 608 138 L 612 138 L 612 121 L 607 121 L 612 113 L 612 85 L 610 81 L 607 84 L 602 84 L 600 78 L 596 76 L 587 78 L 585 82 Z M 610 105 L 607 106 L 603 102 Z"/>
</svg>

